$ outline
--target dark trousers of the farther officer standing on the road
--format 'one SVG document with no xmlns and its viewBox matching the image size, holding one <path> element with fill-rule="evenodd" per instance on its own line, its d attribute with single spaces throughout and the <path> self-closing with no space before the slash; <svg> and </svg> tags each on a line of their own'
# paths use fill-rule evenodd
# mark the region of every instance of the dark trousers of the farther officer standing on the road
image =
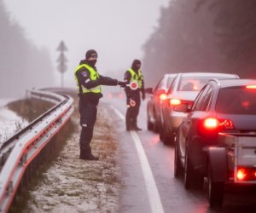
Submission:
<svg viewBox="0 0 256 213">
<path fill-rule="evenodd" d="M 134 107 L 129 106 L 131 99 L 136 102 L 136 105 Z M 131 95 L 131 97 L 129 98 L 127 97 L 126 102 L 127 102 L 127 110 L 125 114 L 126 128 L 137 127 L 137 116 L 141 106 L 141 97 L 139 92 Z"/>
</svg>

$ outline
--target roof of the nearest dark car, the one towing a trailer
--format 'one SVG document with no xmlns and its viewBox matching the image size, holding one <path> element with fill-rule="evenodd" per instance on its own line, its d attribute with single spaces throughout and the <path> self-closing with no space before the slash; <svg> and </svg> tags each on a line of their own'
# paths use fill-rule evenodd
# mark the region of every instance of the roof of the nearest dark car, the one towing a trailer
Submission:
<svg viewBox="0 0 256 213">
<path fill-rule="evenodd" d="M 213 81 L 216 81 L 220 88 L 256 85 L 256 79 L 213 79 Z"/>
</svg>

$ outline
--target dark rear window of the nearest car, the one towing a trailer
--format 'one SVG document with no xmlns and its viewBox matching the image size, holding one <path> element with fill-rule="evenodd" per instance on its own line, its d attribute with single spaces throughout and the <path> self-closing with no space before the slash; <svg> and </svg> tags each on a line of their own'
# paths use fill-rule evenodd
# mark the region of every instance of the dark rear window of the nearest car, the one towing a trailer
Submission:
<svg viewBox="0 0 256 213">
<path fill-rule="evenodd" d="M 216 112 L 224 114 L 256 114 L 256 89 L 221 89 L 216 103 Z"/>
</svg>

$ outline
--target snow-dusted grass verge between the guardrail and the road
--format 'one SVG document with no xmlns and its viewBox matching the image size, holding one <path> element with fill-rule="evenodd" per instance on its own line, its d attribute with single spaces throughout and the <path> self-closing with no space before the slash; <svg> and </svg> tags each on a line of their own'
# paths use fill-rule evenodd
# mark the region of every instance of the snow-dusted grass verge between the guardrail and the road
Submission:
<svg viewBox="0 0 256 213">
<path fill-rule="evenodd" d="M 77 130 L 44 172 L 43 180 L 29 190 L 30 199 L 22 212 L 118 212 L 117 147 L 108 111 L 99 106 L 91 141 L 92 153 L 100 157 L 98 161 L 79 159 L 78 113 L 74 113 L 72 119 Z"/>
</svg>

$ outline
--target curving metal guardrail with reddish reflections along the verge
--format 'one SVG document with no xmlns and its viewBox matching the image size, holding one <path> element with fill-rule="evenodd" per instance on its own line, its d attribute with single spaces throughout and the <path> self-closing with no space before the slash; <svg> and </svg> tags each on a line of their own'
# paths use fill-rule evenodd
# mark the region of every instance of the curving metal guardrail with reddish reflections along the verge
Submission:
<svg viewBox="0 0 256 213">
<path fill-rule="evenodd" d="M 53 136 L 73 113 L 73 99 L 43 90 L 30 90 L 33 98 L 51 101 L 55 106 L 0 144 L 0 212 L 7 212 L 24 176 L 31 176 L 32 162 L 45 153 Z"/>
</svg>

